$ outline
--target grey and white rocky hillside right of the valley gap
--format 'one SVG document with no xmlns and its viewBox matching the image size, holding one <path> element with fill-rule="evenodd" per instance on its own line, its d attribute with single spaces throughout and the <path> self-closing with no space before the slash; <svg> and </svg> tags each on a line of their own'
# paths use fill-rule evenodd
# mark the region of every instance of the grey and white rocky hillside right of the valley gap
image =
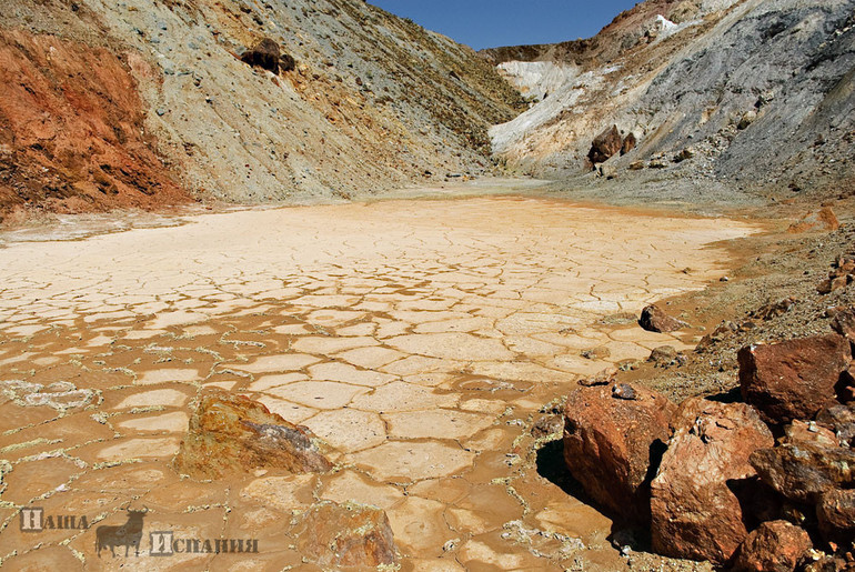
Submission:
<svg viewBox="0 0 855 572">
<path fill-rule="evenodd" d="M 540 175 L 612 157 L 600 173 L 622 184 L 837 191 L 853 174 L 854 14 L 853 0 L 651 0 L 590 40 L 485 51 L 533 103 L 491 131 L 494 152 Z"/>
</svg>

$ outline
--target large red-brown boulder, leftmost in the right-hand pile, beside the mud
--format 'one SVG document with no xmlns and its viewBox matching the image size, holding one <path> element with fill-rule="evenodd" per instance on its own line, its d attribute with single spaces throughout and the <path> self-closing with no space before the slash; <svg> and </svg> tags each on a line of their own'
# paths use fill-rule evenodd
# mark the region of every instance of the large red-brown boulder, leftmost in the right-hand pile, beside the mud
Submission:
<svg viewBox="0 0 855 572">
<path fill-rule="evenodd" d="M 648 475 L 665 449 L 676 407 L 654 391 L 631 389 L 614 383 L 580 387 L 567 397 L 564 462 L 595 501 L 625 518 L 645 521 Z"/>
</svg>

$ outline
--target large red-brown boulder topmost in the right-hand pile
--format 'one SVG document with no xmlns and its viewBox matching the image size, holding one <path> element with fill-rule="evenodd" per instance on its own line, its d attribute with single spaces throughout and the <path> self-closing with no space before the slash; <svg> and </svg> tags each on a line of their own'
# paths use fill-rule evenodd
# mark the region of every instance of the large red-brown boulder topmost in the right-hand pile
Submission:
<svg viewBox="0 0 855 572">
<path fill-rule="evenodd" d="M 848 341 L 836 333 L 740 350 L 742 397 L 770 423 L 813 417 L 835 398 L 852 361 Z"/>
</svg>

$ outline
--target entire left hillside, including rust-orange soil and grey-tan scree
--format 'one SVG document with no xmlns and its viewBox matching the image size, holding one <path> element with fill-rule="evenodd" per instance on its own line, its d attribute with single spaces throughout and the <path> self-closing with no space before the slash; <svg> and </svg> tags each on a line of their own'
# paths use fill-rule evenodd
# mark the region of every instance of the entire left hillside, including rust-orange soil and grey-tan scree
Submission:
<svg viewBox="0 0 855 572">
<path fill-rule="evenodd" d="M 265 38 L 276 73 L 241 58 Z M 524 109 L 471 49 L 361 0 L 10 0 L 0 62 L 6 215 L 481 172 Z"/>
</svg>

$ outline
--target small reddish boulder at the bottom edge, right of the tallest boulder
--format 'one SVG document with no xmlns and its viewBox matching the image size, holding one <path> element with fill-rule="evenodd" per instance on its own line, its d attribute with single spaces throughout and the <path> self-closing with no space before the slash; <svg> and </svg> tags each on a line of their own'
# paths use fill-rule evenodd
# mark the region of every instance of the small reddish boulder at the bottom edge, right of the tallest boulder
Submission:
<svg viewBox="0 0 855 572">
<path fill-rule="evenodd" d="M 734 572 L 793 572 L 813 548 L 811 536 L 787 521 L 764 522 L 748 534 L 733 563 Z"/>
</svg>

